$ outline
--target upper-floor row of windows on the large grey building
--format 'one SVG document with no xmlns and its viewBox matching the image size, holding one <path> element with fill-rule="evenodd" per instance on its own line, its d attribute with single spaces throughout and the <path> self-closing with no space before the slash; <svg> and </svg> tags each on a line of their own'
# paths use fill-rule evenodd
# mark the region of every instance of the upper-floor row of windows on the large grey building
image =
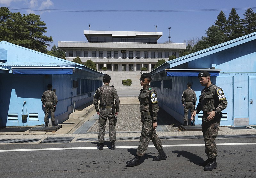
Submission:
<svg viewBox="0 0 256 178">
<path fill-rule="evenodd" d="M 122 55 L 122 58 L 125 58 L 126 57 L 126 50 L 123 50 L 125 52 L 121 53 Z M 129 58 L 133 58 L 133 51 L 129 51 Z M 141 51 L 136 51 L 136 58 L 140 58 L 140 54 L 141 54 Z M 158 51 L 158 55 L 157 57 L 158 58 L 163 58 L 162 56 L 163 52 L 162 51 Z M 96 51 L 91 51 L 91 57 L 96 57 Z M 103 51 L 99 51 L 99 57 L 100 58 L 103 58 L 103 57 L 107 57 L 107 58 L 110 58 L 111 57 L 111 51 L 107 51 L 107 56 L 104 56 L 104 53 Z M 172 55 L 176 56 L 176 52 L 172 52 Z M 119 52 L 118 51 L 114 51 L 114 54 L 113 56 L 115 58 L 118 58 L 119 57 Z M 76 51 L 76 56 L 73 55 L 73 51 L 68 51 L 68 57 L 81 57 L 81 51 Z M 89 57 L 89 51 L 84 51 L 84 56 L 83 57 Z M 155 51 L 151 51 L 150 52 L 150 57 L 151 58 L 156 58 L 156 53 Z M 169 51 L 165 51 L 165 58 L 169 58 Z M 148 58 L 148 51 L 144 51 L 143 52 L 143 58 Z"/>
</svg>

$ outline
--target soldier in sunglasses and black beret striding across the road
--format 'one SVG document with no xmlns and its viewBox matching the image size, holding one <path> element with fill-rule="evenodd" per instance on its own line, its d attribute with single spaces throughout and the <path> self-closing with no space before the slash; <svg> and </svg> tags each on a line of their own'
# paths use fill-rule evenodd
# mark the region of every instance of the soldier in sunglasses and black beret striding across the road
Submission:
<svg viewBox="0 0 256 178">
<path fill-rule="evenodd" d="M 140 145 L 137 148 L 136 156 L 134 159 L 127 161 L 128 166 L 138 166 L 140 165 L 140 158 L 145 154 L 149 141 L 152 140 L 159 155 L 153 158 L 153 161 L 160 161 L 167 158 L 164 153 L 163 145 L 161 140 L 156 134 L 157 127 L 157 112 L 159 111 L 158 101 L 156 97 L 156 91 L 154 91 L 149 83 L 152 80 L 149 73 L 143 73 L 140 76 L 140 85 L 143 89 L 140 90 L 139 101 L 140 101 L 140 112 L 141 112 L 141 122 L 142 129 L 140 135 Z"/>
</svg>

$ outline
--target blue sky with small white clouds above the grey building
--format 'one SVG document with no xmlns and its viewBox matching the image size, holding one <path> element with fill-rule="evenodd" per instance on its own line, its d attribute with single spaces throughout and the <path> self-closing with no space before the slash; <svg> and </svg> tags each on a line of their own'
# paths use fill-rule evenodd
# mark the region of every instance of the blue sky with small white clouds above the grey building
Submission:
<svg viewBox="0 0 256 178">
<path fill-rule="evenodd" d="M 256 0 L 0 0 L 0 6 L 40 15 L 51 46 L 87 41 L 89 24 L 90 30 L 163 32 L 158 42 L 169 40 L 171 27 L 171 41 L 182 43 L 205 36 L 221 10 L 227 19 L 232 8 L 241 19 L 248 7 L 256 12 Z"/>
</svg>

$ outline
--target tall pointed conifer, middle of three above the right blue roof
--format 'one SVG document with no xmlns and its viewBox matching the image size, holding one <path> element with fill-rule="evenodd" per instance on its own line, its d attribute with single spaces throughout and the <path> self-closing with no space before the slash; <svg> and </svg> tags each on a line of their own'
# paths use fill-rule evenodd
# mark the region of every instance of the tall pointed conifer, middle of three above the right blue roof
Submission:
<svg viewBox="0 0 256 178">
<path fill-rule="evenodd" d="M 229 13 L 226 26 L 226 33 L 228 36 L 228 40 L 233 40 L 244 35 L 242 20 L 236 13 L 235 8 L 232 8 Z"/>
</svg>

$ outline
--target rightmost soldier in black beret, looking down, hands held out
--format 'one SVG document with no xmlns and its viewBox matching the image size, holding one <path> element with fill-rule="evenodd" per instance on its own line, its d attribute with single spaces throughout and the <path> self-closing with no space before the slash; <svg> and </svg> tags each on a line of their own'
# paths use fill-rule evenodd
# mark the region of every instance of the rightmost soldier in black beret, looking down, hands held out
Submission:
<svg viewBox="0 0 256 178">
<path fill-rule="evenodd" d="M 203 111 L 202 132 L 207 160 L 202 162 L 201 165 L 204 166 L 205 171 L 212 171 L 217 168 L 217 148 L 214 140 L 218 135 L 220 127 L 221 111 L 227 108 L 228 102 L 222 89 L 212 84 L 209 72 L 200 72 L 198 78 L 200 84 L 205 86 L 205 88 L 201 92 L 199 103 L 196 110 L 193 112 L 191 119 L 200 111 Z"/>
</svg>

